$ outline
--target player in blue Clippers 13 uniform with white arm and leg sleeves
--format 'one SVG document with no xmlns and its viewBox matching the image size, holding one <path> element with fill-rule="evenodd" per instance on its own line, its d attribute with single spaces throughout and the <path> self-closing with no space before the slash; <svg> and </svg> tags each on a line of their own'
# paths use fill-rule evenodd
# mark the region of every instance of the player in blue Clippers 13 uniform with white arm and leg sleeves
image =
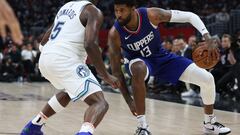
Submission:
<svg viewBox="0 0 240 135">
<path fill-rule="evenodd" d="M 204 103 L 204 133 L 225 135 L 231 130 L 216 121 L 213 112 L 215 83 L 213 76 L 191 60 L 169 53 L 161 46 L 158 25 L 162 22 L 191 23 L 209 45 L 209 55 L 216 56 L 213 39 L 200 18 L 191 12 L 160 8 L 135 8 L 134 0 L 115 0 L 116 22 L 109 32 L 109 54 L 113 75 L 121 83 L 120 90 L 130 110 L 137 116 L 136 135 L 150 135 L 145 118 L 145 80 L 149 75 L 176 83 L 193 83 L 201 88 Z M 121 71 L 121 59 L 132 79 L 131 98 Z M 218 59 L 217 57 L 213 59 Z M 160 117 L 160 116 L 159 116 Z"/>
</svg>

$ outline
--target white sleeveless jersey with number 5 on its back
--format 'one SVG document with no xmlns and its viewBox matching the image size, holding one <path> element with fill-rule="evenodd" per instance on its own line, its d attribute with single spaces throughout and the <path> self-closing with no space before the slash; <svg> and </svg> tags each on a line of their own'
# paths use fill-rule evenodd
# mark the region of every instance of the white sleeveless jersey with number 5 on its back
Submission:
<svg viewBox="0 0 240 135">
<path fill-rule="evenodd" d="M 85 27 L 80 21 L 83 8 L 91 4 L 89 1 L 68 2 L 60 8 L 55 20 L 49 41 L 44 45 L 42 53 L 57 53 L 64 56 L 77 56 L 85 62 L 84 49 Z"/>
</svg>

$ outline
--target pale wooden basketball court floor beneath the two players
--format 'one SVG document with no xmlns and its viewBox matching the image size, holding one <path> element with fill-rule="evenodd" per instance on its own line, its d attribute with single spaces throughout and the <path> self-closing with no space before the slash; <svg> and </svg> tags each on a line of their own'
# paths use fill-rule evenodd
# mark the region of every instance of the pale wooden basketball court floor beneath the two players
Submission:
<svg viewBox="0 0 240 135">
<path fill-rule="evenodd" d="M 57 90 L 49 83 L 0 83 L 0 135 L 17 135 Z M 133 135 L 136 118 L 120 94 L 104 92 L 110 108 L 95 135 Z M 147 118 L 153 135 L 202 135 L 200 107 L 147 99 Z M 74 135 L 83 121 L 86 104 L 69 104 L 48 120 L 46 135 Z M 240 135 L 240 114 L 215 111 L 218 120 Z"/>
</svg>

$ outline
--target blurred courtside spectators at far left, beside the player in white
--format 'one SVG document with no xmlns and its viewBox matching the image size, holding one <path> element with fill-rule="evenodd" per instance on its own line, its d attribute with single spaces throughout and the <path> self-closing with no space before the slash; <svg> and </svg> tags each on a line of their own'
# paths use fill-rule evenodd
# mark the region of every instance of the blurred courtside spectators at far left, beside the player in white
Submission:
<svg viewBox="0 0 240 135">
<path fill-rule="evenodd" d="M 0 52 L 0 81 L 42 81 L 38 70 L 39 41 L 33 36 L 25 37 L 24 44 L 19 46 L 8 36 Z"/>
</svg>

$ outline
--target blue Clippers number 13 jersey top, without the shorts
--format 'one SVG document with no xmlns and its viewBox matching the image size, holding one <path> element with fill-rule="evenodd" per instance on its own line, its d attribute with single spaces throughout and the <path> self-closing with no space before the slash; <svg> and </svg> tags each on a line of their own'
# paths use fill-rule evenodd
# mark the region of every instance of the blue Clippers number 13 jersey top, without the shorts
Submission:
<svg viewBox="0 0 240 135">
<path fill-rule="evenodd" d="M 168 55 L 161 46 L 159 29 L 150 23 L 146 8 L 137 9 L 137 13 L 139 26 L 135 32 L 121 27 L 118 21 L 114 24 L 121 37 L 123 55 L 130 59 Z"/>
</svg>

